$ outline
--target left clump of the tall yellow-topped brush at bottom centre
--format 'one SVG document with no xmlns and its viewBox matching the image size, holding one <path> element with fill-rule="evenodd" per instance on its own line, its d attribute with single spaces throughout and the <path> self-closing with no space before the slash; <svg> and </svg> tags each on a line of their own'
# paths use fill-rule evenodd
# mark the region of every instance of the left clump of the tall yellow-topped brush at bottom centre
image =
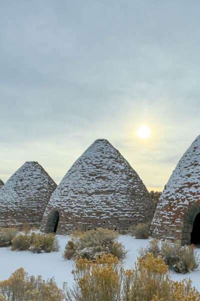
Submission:
<svg viewBox="0 0 200 301">
<path fill-rule="evenodd" d="M 119 301 L 122 282 L 122 266 L 111 254 L 103 254 L 96 261 L 80 258 L 75 261 L 74 285 L 64 284 L 67 301 Z"/>
</svg>

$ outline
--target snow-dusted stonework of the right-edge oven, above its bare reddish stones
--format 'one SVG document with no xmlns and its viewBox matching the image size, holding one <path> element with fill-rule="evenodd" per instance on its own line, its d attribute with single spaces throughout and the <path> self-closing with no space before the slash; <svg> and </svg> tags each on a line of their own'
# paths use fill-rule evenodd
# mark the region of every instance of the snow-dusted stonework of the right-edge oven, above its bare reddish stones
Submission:
<svg viewBox="0 0 200 301">
<path fill-rule="evenodd" d="M 184 209 L 199 200 L 200 135 L 186 150 L 164 187 L 152 221 L 153 233 L 161 232 L 163 223 L 171 224 L 177 210 L 183 216 Z M 174 223 L 182 223 L 182 220 L 176 219 Z"/>
</svg>

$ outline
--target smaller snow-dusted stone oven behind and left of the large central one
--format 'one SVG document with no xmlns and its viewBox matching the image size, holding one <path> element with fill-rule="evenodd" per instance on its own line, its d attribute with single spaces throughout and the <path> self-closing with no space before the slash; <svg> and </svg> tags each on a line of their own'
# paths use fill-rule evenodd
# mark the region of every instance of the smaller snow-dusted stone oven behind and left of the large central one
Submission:
<svg viewBox="0 0 200 301">
<path fill-rule="evenodd" d="M 0 227 L 39 226 L 56 187 L 37 162 L 26 162 L 0 189 Z"/>
</svg>

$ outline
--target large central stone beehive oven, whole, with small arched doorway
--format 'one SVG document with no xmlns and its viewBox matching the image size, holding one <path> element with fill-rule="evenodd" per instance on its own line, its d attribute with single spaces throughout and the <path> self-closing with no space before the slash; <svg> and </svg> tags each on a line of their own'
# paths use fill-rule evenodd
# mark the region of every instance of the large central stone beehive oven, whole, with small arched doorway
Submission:
<svg viewBox="0 0 200 301">
<path fill-rule="evenodd" d="M 67 172 L 44 212 L 41 230 L 59 234 L 152 220 L 152 200 L 137 173 L 107 140 L 98 139 Z"/>
</svg>

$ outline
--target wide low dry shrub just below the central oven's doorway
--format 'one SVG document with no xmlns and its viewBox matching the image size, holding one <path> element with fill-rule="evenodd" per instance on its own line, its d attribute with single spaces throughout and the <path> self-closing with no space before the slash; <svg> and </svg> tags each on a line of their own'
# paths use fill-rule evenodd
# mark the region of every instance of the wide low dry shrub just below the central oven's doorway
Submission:
<svg viewBox="0 0 200 301">
<path fill-rule="evenodd" d="M 52 233 L 40 234 L 31 233 L 19 234 L 12 239 L 11 250 L 31 251 L 33 253 L 49 253 L 59 250 L 59 243 L 56 236 Z"/>
</svg>

